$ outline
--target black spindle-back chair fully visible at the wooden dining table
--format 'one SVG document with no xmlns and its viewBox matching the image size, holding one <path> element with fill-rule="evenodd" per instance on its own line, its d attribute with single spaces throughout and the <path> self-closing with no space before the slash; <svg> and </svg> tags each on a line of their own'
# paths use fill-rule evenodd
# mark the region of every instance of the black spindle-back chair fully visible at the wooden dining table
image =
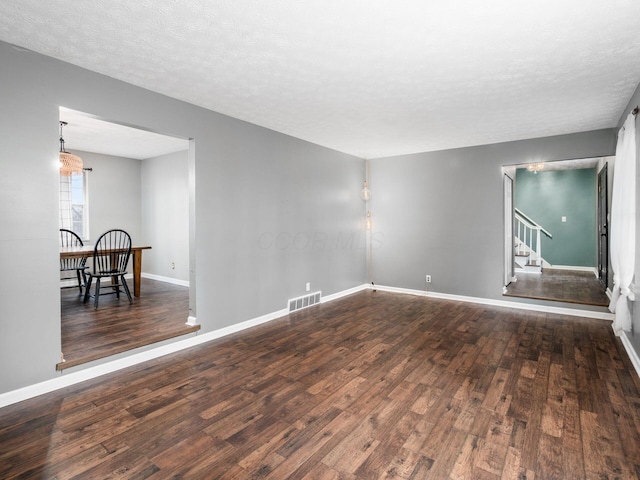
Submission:
<svg viewBox="0 0 640 480">
<path fill-rule="evenodd" d="M 120 293 L 124 292 L 129 297 L 129 303 L 133 303 L 131 292 L 124 276 L 127 274 L 127 264 L 131 256 L 131 236 L 124 230 L 109 230 L 103 233 L 93 251 L 93 268 L 87 270 L 87 287 L 84 291 L 84 303 L 87 303 L 90 296 L 91 284 L 96 279 L 96 288 L 93 294 L 95 308 L 98 308 L 100 295 L 115 293 L 120 298 Z M 108 285 L 110 291 L 100 292 L 100 280 L 111 278 Z M 121 290 L 123 287 L 124 290 Z"/>
</svg>

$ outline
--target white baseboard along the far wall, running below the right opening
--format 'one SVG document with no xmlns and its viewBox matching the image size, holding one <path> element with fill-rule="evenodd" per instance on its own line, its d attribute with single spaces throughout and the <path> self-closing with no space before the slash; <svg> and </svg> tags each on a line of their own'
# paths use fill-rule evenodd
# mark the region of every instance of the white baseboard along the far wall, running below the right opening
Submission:
<svg viewBox="0 0 640 480">
<path fill-rule="evenodd" d="M 459 302 L 479 303 L 482 305 L 493 305 L 496 307 L 518 308 L 520 310 L 533 310 L 535 312 L 557 313 L 560 315 L 572 315 L 574 317 L 596 318 L 599 320 L 613 320 L 615 316 L 608 312 L 595 312 L 593 310 L 579 310 L 577 308 L 552 307 L 547 305 L 538 305 L 535 303 L 509 302 L 506 300 L 494 300 L 491 298 L 466 297 L 462 295 L 451 295 L 449 293 L 438 293 L 423 290 L 411 290 L 408 288 L 387 287 L 376 285 L 377 290 L 406 293 L 409 295 L 419 295 L 422 297 L 442 298 L 445 300 L 456 300 Z"/>
</svg>

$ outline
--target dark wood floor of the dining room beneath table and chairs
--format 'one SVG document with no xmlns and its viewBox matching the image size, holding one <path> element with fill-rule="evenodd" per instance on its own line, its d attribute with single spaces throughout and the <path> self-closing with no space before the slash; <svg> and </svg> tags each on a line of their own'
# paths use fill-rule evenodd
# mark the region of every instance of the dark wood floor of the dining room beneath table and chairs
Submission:
<svg viewBox="0 0 640 480">
<path fill-rule="evenodd" d="M 103 289 L 104 290 L 104 289 Z M 58 370 L 126 352 L 198 331 L 186 325 L 189 288 L 143 278 L 142 294 L 129 304 L 126 295 L 100 297 L 82 303 L 75 288 L 60 290 L 62 352 Z"/>
</svg>

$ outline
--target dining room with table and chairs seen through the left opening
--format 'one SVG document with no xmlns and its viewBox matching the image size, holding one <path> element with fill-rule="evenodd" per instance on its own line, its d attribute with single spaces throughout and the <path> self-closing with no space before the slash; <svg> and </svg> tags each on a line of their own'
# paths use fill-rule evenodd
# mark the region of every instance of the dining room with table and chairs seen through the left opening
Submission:
<svg viewBox="0 0 640 480">
<path fill-rule="evenodd" d="M 195 335 L 190 142 L 60 108 L 59 371 Z"/>
</svg>

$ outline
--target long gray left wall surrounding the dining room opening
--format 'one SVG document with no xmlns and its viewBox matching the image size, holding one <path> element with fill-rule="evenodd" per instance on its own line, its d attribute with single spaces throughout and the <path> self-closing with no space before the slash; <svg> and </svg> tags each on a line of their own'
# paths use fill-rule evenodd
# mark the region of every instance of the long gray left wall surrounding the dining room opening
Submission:
<svg viewBox="0 0 640 480">
<path fill-rule="evenodd" d="M 60 106 L 194 139 L 202 332 L 283 309 L 306 282 L 325 295 L 366 282 L 364 251 L 337 241 L 361 228 L 363 160 L 6 43 L 0 64 L 0 393 L 57 375 Z"/>
</svg>

